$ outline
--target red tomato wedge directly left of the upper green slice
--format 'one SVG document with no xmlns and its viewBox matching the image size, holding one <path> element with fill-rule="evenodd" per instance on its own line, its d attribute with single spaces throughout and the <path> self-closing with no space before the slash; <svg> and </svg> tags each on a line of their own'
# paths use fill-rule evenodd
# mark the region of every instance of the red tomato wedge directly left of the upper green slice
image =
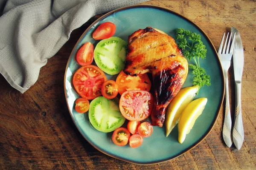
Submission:
<svg viewBox="0 0 256 170">
<path fill-rule="evenodd" d="M 80 65 L 90 65 L 93 62 L 93 44 L 86 42 L 77 52 L 76 61 Z"/>
</svg>

